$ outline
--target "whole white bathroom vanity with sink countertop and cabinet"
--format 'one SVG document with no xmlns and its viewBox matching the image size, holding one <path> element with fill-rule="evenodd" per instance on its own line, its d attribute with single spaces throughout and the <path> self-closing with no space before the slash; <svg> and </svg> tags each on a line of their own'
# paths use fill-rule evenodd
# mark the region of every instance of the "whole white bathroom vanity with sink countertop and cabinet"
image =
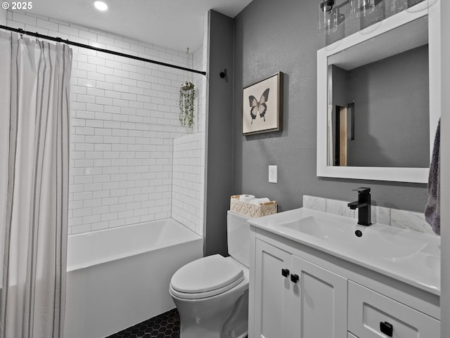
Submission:
<svg viewBox="0 0 450 338">
<path fill-rule="evenodd" d="M 439 236 L 304 208 L 248 223 L 249 337 L 439 338 Z"/>
</svg>

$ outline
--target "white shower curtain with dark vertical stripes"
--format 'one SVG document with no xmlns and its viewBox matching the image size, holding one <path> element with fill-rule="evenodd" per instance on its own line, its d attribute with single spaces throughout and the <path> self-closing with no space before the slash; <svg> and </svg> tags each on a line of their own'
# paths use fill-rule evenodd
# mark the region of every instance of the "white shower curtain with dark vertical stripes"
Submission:
<svg viewBox="0 0 450 338">
<path fill-rule="evenodd" d="M 70 70 L 65 44 L 0 32 L 1 338 L 60 338 Z"/>
</svg>

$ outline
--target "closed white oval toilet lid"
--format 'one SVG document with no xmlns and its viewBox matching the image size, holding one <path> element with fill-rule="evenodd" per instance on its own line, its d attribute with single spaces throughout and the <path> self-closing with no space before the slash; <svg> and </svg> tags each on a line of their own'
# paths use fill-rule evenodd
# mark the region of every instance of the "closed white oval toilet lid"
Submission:
<svg viewBox="0 0 450 338">
<path fill-rule="evenodd" d="M 242 268 L 231 259 L 214 254 L 179 268 L 172 276 L 173 290 L 186 294 L 217 294 L 229 290 L 244 278 Z M 212 292 L 217 290 L 219 292 Z"/>
</svg>

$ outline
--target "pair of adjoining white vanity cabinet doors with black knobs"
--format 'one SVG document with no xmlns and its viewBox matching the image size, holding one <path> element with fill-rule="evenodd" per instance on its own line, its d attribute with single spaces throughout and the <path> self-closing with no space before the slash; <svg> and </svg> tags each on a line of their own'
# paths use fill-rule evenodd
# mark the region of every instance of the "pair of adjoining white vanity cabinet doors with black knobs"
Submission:
<svg viewBox="0 0 450 338">
<path fill-rule="evenodd" d="M 262 240 L 255 249 L 254 337 L 347 335 L 345 278 Z"/>
</svg>

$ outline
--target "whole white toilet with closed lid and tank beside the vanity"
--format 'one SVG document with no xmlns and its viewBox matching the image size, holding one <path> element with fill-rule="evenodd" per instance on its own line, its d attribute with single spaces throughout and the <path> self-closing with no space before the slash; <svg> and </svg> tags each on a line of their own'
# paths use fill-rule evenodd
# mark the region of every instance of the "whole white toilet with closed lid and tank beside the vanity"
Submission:
<svg viewBox="0 0 450 338">
<path fill-rule="evenodd" d="M 229 211 L 228 251 L 179 268 L 169 292 L 180 314 L 180 338 L 244 338 L 248 334 L 249 217 Z"/>
</svg>

